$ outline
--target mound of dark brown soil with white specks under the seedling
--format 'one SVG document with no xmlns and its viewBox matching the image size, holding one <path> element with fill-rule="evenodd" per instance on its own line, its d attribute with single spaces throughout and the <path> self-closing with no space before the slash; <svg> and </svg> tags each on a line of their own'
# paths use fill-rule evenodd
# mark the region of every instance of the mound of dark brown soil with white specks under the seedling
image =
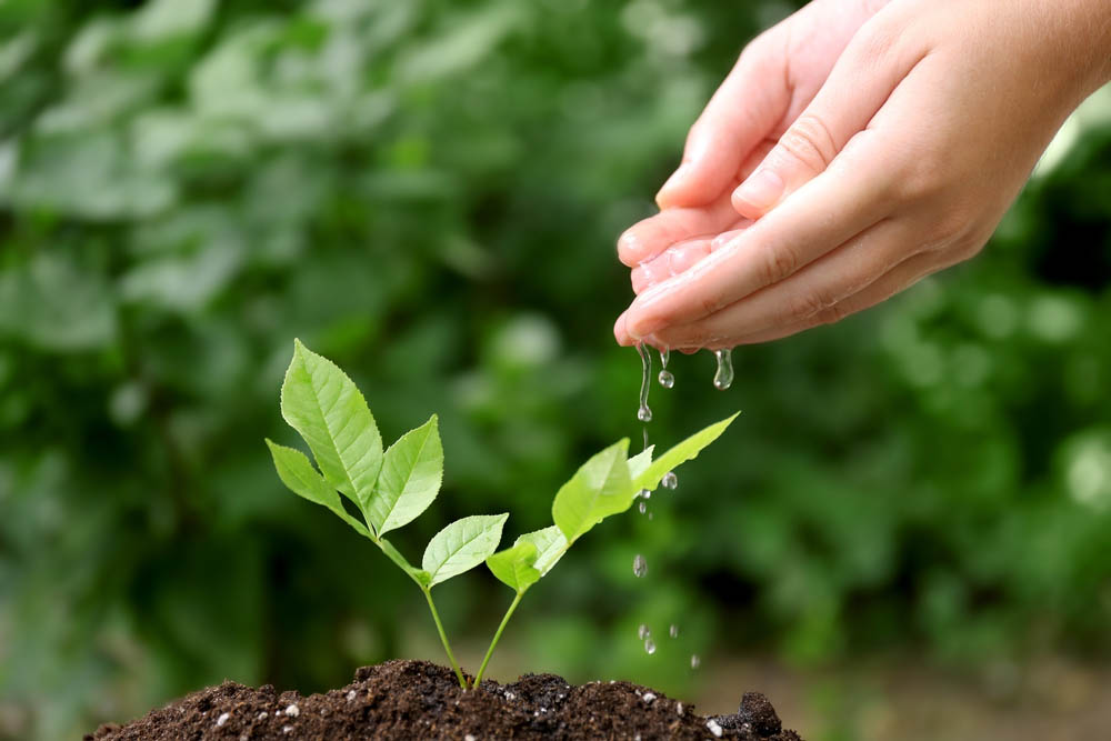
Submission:
<svg viewBox="0 0 1111 741">
<path fill-rule="evenodd" d="M 127 725 L 107 723 L 86 741 L 157 739 L 743 739 L 801 741 L 783 730 L 765 697 L 748 692 L 732 715 L 703 717 L 691 704 L 630 682 L 573 687 L 556 674 L 511 684 L 483 680 L 464 691 L 450 669 L 427 661 L 363 667 L 354 681 L 301 697 L 270 684 L 224 682 Z"/>
</svg>

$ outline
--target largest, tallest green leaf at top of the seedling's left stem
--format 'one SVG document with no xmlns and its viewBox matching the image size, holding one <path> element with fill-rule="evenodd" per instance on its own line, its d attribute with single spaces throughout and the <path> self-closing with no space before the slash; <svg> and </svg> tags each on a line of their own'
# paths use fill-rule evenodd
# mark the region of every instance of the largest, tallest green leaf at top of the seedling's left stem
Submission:
<svg viewBox="0 0 1111 741">
<path fill-rule="evenodd" d="M 300 340 L 281 387 L 281 413 L 309 443 L 324 479 L 366 511 L 382 468 L 382 437 L 351 379 Z"/>
</svg>

